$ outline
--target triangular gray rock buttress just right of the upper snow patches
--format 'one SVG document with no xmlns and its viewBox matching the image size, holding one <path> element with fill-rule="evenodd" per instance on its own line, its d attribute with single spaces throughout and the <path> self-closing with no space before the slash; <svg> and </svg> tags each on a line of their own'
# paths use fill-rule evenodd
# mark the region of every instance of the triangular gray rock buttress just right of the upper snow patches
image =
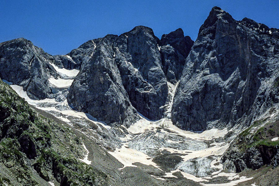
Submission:
<svg viewBox="0 0 279 186">
<path fill-rule="evenodd" d="M 110 50 L 117 36 L 96 40 L 97 47 L 90 60 L 82 63 L 67 97 L 78 111 L 86 112 L 112 126 L 130 126 L 138 116 L 122 85 L 119 70 Z"/>
</svg>

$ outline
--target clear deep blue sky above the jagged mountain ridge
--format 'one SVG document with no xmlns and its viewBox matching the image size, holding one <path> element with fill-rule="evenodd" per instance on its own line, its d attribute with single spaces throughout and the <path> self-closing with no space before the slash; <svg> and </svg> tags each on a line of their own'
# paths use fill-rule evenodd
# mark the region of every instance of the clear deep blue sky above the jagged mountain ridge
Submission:
<svg viewBox="0 0 279 186">
<path fill-rule="evenodd" d="M 66 54 L 82 43 L 144 25 L 155 35 L 182 28 L 196 40 L 212 7 L 236 20 L 244 17 L 279 28 L 279 0 L 1 0 L 0 42 L 26 38 L 49 54 Z"/>
</svg>

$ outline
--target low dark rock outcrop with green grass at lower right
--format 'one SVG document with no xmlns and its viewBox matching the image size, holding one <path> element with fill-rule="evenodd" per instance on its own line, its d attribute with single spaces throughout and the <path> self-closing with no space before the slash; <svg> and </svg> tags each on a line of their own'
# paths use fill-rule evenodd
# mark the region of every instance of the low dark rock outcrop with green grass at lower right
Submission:
<svg viewBox="0 0 279 186">
<path fill-rule="evenodd" d="M 223 168 L 238 173 L 246 168 L 259 169 L 263 165 L 278 166 L 278 116 L 276 114 L 272 118 L 257 120 L 242 131 L 223 154 L 221 158 Z"/>
</svg>

